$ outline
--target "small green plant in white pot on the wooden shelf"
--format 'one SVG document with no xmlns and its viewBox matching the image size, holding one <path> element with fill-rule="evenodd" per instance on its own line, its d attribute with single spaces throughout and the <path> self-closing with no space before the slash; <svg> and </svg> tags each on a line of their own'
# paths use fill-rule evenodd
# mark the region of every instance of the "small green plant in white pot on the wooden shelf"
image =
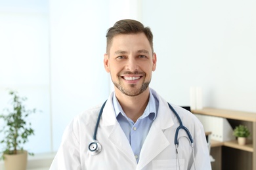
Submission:
<svg viewBox="0 0 256 170">
<path fill-rule="evenodd" d="M 238 144 L 244 145 L 246 143 L 246 138 L 249 137 L 251 133 L 249 132 L 249 129 L 247 126 L 239 125 L 234 128 L 233 135 L 235 137 L 238 137 Z"/>
</svg>

